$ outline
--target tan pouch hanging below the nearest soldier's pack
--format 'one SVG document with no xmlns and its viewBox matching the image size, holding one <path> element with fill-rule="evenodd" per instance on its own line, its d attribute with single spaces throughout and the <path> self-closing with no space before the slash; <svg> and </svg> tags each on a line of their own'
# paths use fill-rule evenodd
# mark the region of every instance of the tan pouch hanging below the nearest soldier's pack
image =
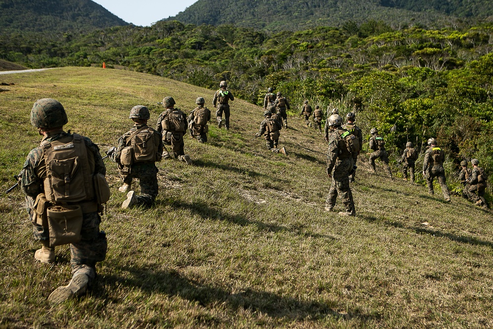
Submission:
<svg viewBox="0 0 493 329">
<path fill-rule="evenodd" d="M 77 243 L 82 229 L 80 206 L 53 206 L 47 209 L 50 247 Z"/>
</svg>

